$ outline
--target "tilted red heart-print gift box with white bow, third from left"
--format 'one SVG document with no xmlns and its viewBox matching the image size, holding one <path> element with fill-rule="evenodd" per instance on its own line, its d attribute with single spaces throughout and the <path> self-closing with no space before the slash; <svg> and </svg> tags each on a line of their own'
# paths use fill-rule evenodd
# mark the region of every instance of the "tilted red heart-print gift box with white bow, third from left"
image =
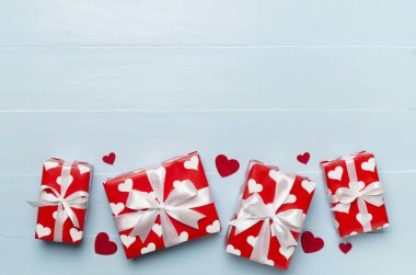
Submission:
<svg viewBox="0 0 416 275">
<path fill-rule="evenodd" d="M 314 190 L 308 177 L 251 161 L 227 233 L 227 252 L 287 270 Z"/>
</svg>

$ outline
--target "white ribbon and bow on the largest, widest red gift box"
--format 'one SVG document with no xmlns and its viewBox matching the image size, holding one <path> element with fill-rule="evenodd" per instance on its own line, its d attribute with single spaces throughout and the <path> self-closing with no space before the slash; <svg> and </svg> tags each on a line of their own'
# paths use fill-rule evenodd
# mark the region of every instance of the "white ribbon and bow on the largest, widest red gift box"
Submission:
<svg viewBox="0 0 416 275">
<path fill-rule="evenodd" d="M 181 238 L 171 218 L 198 229 L 198 221 L 206 216 L 190 208 L 212 203 L 209 188 L 197 190 L 189 180 L 177 181 L 174 183 L 173 191 L 164 200 L 165 169 L 161 167 L 154 170 L 147 170 L 146 172 L 155 196 L 146 192 L 131 190 L 126 206 L 136 211 L 115 217 L 118 231 L 132 228 L 130 236 L 139 236 L 141 241 L 145 242 L 157 217 L 160 216 L 165 247 L 181 243 Z"/>
</svg>

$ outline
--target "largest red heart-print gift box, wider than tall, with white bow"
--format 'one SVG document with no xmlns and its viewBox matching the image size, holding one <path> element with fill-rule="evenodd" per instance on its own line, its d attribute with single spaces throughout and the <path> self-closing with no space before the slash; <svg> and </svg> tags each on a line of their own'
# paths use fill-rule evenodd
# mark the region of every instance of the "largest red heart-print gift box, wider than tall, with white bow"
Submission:
<svg viewBox="0 0 416 275">
<path fill-rule="evenodd" d="M 127 259 L 220 231 L 197 152 L 104 183 Z"/>
</svg>

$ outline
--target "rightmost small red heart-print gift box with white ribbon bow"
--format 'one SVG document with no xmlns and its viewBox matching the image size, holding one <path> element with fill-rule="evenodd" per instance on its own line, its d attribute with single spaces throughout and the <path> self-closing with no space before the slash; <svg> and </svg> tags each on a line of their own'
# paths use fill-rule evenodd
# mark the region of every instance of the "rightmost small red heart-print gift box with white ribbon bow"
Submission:
<svg viewBox="0 0 416 275">
<path fill-rule="evenodd" d="M 342 238 L 389 226 L 374 154 L 362 151 L 323 161 L 321 165 Z"/>
</svg>

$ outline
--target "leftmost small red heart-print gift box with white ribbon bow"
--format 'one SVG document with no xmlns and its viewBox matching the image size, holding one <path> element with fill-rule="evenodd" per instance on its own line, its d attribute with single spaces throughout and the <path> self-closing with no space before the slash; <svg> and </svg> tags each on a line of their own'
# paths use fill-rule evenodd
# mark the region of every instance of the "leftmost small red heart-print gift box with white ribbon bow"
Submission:
<svg viewBox="0 0 416 275">
<path fill-rule="evenodd" d="M 80 244 L 82 241 L 92 165 L 49 159 L 44 162 L 36 239 Z"/>
</svg>

